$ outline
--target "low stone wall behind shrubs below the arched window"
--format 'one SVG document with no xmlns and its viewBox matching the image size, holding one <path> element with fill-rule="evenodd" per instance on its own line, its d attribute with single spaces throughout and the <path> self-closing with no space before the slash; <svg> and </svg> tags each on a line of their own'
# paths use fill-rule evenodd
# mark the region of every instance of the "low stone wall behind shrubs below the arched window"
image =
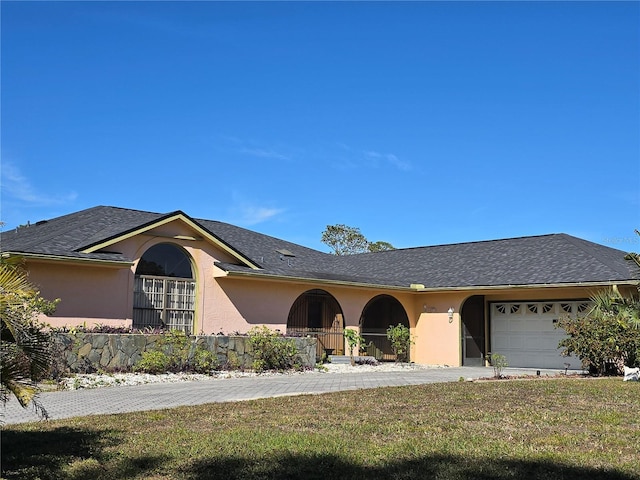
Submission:
<svg viewBox="0 0 640 480">
<path fill-rule="evenodd" d="M 142 352 L 154 350 L 155 343 L 162 335 L 107 334 L 107 333 L 56 333 L 53 342 L 57 354 L 62 358 L 65 370 L 74 373 L 96 370 L 131 370 L 142 358 Z M 305 368 L 313 368 L 316 363 L 317 339 L 291 337 L 298 347 L 298 358 Z M 227 362 L 229 352 L 235 352 L 241 368 L 249 369 L 253 354 L 248 336 L 196 336 L 190 337 L 191 351 L 196 345 L 203 345 L 218 356 L 221 365 Z"/>
</svg>

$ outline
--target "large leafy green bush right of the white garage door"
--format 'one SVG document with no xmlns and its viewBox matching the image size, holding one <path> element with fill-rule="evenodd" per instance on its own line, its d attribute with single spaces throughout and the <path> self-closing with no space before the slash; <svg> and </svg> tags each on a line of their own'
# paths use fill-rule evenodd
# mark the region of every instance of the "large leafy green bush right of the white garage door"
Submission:
<svg viewBox="0 0 640 480">
<path fill-rule="evenodd" d="M 624 366 L 640 366 L 640 301 L 616 289 L 591 297 L 585 315 L 561 318 L 557 326 L 568 337 L 559 347 L 563 355 L 576 355 L 584 368 L 598 375 L 620 374 Z"/>
</svg>

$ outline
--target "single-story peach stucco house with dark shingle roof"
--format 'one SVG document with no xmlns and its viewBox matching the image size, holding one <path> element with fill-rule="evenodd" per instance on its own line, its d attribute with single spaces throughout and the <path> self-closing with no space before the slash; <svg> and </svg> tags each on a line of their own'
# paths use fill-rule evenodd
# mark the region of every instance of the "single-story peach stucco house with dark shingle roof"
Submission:
<svg viewBox="0 0 640 480">
<path fill-rule="evenodd" d="M 392 359 L 385 332 L 411 329 L 411 360 L 578 368 L 556 328 L 597 289 L 637 288 L 625 252 L 566 234 L 337 256 L 181 211 L 98 206 L 2 233 L 42 296 L 62 301 L 53 326 L 179 328 L 190 334 L 267 325 L 346 353 L 344 329 Z"/>
</svg>

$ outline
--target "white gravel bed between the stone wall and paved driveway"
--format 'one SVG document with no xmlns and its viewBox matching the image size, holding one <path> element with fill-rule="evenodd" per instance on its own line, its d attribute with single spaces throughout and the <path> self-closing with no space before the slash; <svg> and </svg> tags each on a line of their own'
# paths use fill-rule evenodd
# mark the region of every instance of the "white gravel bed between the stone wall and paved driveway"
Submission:
<svg viewBox="0 0 640 480">
<path fill-rule="evenodd" d="M 441 366 L 417 365 L 415 363 L 381 363 L 379 365 L 355 365 L 349 364 L 331 364 L 326 363 L 321 368 L 306 370 L 303 372 L 242 372 L 242 371 L 219 371 L 212 375 L 203 375 L 196 373 L 164 373 L 159 375 L 151 375 L 148 373 L 113 373 L 113 374 L 78 374 L 73 377 L 64 378 L 59 383 L 62 390 L 79 390 L 86 388 L 101 387 L 123 387 L 130 385 L 142 385 L 147 383 L 177 383 L 177 382 L 197 382 L 211 379 L 226 379 L 240 377 L 256 377 L 256 376 L 274 376 L 274 375 L 321 375 L 330 373 L 349 373 L 349 372 L 394 372 L 406 370 L 421 370 L 426 368 L 444 368 Z"/>
</svg>

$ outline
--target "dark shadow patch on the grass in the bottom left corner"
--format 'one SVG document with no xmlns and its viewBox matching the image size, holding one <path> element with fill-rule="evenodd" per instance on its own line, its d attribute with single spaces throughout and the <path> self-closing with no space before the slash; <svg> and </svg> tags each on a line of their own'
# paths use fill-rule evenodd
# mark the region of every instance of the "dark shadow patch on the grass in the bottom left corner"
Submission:
<svg viewBox="0 0 640 480">
<path fill-rule="evenodd" d="M 2 479 L 132 478 L 165 462 L 162 456 L 107 459 L 104 449 L 120 441 L 120 432 L 113 430 L 4 430 Z M 110 460 L 108 469 L 106 460 Z"/>
</svg>

